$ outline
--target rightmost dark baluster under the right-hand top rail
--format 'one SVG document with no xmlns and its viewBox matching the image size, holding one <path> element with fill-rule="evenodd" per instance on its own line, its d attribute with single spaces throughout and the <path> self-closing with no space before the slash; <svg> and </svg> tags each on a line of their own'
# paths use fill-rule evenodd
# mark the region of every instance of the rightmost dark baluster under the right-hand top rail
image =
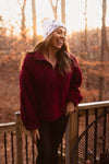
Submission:
<svg viewBox="0 0 109 164">
<path fill-rule="evenodd" d="M 105 154 L 105 148 L 106 148 L 106 124 L 107 124 L 107 114 L 106 114 L 106 107 L 104 108 L 104 140 L 102 140 L 102 152 Z"/>
</svg>

